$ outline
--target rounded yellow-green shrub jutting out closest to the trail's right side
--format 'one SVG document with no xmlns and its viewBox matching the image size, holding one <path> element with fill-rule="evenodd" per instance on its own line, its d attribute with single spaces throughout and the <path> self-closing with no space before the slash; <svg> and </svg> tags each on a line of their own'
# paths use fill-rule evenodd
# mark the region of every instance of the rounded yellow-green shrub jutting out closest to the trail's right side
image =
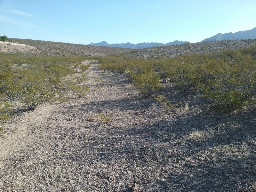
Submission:
<svg viewBox="0 0 256 192">
<path fill-rule="evenodd" d="M 134 76 L 134 86 L 145 97 L 152 95 L 157 90 L 163 88 L 160 84 L 160 75 L 154 71 L 148 73 L 139 73 Z"/>
</svg>

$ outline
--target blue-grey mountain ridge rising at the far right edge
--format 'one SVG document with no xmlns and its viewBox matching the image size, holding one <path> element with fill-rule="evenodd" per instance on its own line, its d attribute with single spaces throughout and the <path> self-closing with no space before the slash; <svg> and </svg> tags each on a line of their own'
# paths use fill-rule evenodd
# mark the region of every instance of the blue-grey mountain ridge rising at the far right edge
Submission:
<svg viewBox="0 0 256 192">
<path fill-rule="evenodd" d="M 218 33 L 215 36 L 204 39 L 201 42 L 207 41 L 223 41 L 223 40 L 238 40 L 238 39 L 256 39 L 256 27 L 247 31 L 238 31 L 236 33 Z"/>
</svg>

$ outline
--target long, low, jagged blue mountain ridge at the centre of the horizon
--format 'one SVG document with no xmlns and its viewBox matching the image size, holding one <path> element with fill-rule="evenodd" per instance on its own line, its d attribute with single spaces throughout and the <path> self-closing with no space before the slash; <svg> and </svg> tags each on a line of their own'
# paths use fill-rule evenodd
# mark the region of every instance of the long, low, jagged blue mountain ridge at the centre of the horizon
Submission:
<svg viewBox="0 0 256 192">
<path fill-rule="evenodd" d="M 123 47 L 123 48 L 130 48 L 130 49 L 143 49 L 143 48 L 149 48 L 149 47 L 161 47 L 161 46 L 168 46 L 168 45 L 179 45 L 179 44 L 185 44 L 188 43 L 187 41 L 173 41 L 169 42 L 167 44 L 163 43 L 138 43 L 138 44 L 132 44 L 130 42 L 127 43 L 115 43 L 115 44 L 108 44 L 106 41 L 102 41 L 100 43 L 90 43 L 88 45 L 93 46 L 105 46 L 105 47 Z"/>
</svg>

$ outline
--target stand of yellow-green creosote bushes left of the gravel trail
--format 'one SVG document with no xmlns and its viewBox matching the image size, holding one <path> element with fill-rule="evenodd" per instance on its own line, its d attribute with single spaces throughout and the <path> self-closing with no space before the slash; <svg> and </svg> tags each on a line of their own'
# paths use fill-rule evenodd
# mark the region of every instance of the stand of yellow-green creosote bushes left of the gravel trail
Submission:
<svg viewBox="0 0 256 192">
<path fill-rule="evenodd" d="M 82 60 L 84 57 L 0 53 L 0 92 L 30 110 L 63 98 L 71 89 L 82 97 L 88 87 L 78 84 L 87 80 L 86 73 L 75 80 L 64 78 L 76 73 L 69 66 Z"/>
</svg>

